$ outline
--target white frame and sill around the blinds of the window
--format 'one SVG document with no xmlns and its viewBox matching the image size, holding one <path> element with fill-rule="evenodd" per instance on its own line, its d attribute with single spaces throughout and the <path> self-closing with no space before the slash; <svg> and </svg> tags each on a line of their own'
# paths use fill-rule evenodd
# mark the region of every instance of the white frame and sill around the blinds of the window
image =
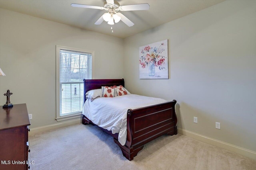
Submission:
<svg viewBox="0 0 256 170">
<path fill-rule="evenodd" d="M 60 116 L 60 50 L 92 54 L 92 79 L 94 79 L 94 51 L 56 45 L 56 120 L 65 121 L 82 117 L 82 112 Z"/>
</svg>

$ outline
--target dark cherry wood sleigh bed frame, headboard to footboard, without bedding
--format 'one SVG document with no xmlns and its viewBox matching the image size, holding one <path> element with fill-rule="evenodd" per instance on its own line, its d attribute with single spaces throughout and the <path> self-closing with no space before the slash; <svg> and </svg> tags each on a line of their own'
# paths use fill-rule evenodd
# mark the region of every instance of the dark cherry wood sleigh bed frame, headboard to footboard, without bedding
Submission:
<svg viewBox="0 0 256 170">
<path fill-rule="evenodd" d="M 124 79 L 84 79 L 83 81 L 84 103 L 86 102 L 86 92 L 90 90 L 100 89 L 102 86 L 121 85 L 124 87 Z M 123 145 L 118 141 L 118 133 L 112 134 L 112 131 L 108 131 L 102 127 L 100 128 L 114 137 L 114 142 L 120 147 L 124 157 L 128 160 L 133 160 L 146 143 L 164 134 L 177 134 L 175 104 L 176 100 L 173 100 L 152 106 L 127 109 L 127 136 Z M 84 125 L 95 125 L 86 115 L 83 115 L 82 123 Z"/>
</svg>

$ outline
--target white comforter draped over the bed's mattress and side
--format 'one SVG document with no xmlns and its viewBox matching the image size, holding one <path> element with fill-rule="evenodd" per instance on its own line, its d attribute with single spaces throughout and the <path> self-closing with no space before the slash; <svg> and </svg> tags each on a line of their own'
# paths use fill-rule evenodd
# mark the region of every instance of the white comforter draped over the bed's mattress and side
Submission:
<svg viewBox="0 0 256 170">
<path fill-rule="evenodd" d="M 127 110 L 168 102 L 160 98 L 128 94 L 114 98 L 96 98 L 93 101 L 86 100 L 83 115 L 94 124 L 118 134 L 121 145 L 126 143 L 127 134 Z"/>
</svg>

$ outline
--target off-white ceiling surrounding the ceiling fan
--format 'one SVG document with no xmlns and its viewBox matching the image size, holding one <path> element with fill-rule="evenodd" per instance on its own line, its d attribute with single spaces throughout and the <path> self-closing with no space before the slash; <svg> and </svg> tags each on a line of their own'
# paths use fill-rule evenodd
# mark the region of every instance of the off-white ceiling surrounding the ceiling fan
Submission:
<svg viewBox="0 0 256 170">
<path fill-rule="evenodd" d="M 0 0 L 0 8 L 98 33 L 126 38 L 130 35 L 176 20 L 223 1 L 224 0 L 117 0 L 120 5 L 148 3 L 150 9 L 122 12 L 124 16 L 134 23 L 134 26 L 128 27 L 120 21 L 113 25 L 114 33 L 111 32 L 111 25 L 108 25 L 105 21 L 103 21 L 101 25 L 94 25 L 102 14 L 106 12 L 105 10 L 75 8 L 70 6 L 72 3 L 104 6 L 106 0 Z"/>
</svg>

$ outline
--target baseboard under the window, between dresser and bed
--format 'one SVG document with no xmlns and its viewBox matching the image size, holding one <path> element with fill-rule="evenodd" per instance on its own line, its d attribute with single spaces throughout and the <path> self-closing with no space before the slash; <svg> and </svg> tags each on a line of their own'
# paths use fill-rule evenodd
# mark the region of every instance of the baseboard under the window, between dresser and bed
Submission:
<svg viewBox="0 0 256 170">
<path fill-rule="evenodd" d="M 53 125 L 46 125 L 46 126 L 31 128 L 28 135 L 30 136 L 30 135 L 34 135 L 36 133 L 40 133 L 40 132 L 44 132 L 44 131 L 48 131 L 48 130 L 52 130 L 52 129 L 57 129 L 57 128 L 65 127 L 65 126 L 69 126 L 69 125 L 75 125 L 78 123 L 82 123 L 82 118 L 76 118 L 76 119 L 72 119 L 70 121 L 63 121 L 61 123 L 56 123 Z"/>
</svg>

